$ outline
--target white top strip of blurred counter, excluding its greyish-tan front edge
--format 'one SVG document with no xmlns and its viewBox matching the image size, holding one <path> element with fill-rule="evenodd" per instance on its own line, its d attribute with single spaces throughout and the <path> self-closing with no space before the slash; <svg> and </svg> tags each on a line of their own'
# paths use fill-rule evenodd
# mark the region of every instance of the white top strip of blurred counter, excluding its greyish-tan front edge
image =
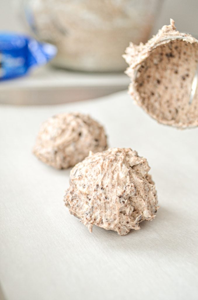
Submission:
<svg viewBox="0 0 198 300">
<path fill-rule="evenodd" d="M 130 79 L 123 72 L 120 73 L 89 73 L 60 70 L 50 66 L 43 66 L 30 70 L 24 77 L 2 81 L 0 91 L 26 88 L 48 87 L 100 87 L 100 86 L 127 86 Z"/>
</svg>

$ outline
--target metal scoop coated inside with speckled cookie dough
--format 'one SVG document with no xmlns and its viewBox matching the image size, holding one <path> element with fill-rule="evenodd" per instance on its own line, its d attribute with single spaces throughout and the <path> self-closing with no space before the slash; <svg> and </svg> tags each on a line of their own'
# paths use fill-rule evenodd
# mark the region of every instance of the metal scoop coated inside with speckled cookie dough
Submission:
<svg viewBox="0 0 198 300">
<path fill-rule="evenodd" d="M 198 126 L 198 40 L 176 31 L 170 19 L 146 44 L 130 43 L 123 55 L 129 93 L 158 122 Z"/>
</svg>

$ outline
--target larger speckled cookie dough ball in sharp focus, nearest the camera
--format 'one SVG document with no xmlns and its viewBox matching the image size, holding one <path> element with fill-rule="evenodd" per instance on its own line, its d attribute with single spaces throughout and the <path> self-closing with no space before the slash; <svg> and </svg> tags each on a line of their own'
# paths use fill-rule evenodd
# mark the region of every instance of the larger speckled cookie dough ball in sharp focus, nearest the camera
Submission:
<svg viewBox="0 0 198 300">
<path fill-rule="evenodd" d="M 130 148 L 91 152 L 71 170 L 65 204 L 90 232 L 96 225 L 126 235 L 159 208 L 149 170 L 146 158 Z"/>
</svg>

